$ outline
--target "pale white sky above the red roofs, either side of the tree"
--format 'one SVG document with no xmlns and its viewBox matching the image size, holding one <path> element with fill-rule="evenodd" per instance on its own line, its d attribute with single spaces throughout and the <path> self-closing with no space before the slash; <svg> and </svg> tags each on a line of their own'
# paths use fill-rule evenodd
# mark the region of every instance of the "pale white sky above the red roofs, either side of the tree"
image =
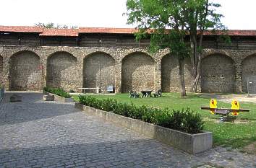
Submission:
<svg viewBox="0 0 256 168">
<path fill-rule="evenodd" d="M 54 22 L 78 27 L 135 27 L 127 25 L 127 0 L 0 0 L 0 25 L 33 26 Z M 212 0 L 229 30 L 256 30 L 256 0 Z"/>
</svg>

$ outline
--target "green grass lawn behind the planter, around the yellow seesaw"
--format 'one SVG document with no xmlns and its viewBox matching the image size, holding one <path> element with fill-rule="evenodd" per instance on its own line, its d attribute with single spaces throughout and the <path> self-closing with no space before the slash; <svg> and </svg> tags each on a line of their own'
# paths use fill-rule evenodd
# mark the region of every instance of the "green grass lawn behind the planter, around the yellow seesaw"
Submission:
<svg viewBox="0 0 256 168">
<path fill-rule="evenodd" d="M 188 94 L 181 98 L 179 93 L 163 93 L 163 97 L 129 98 L 129 94 L 97 95 L 98 98 L 114 98 L 121 102 L 133 102 L 137 105 L 148 105 L 151 107 L 168 107 L 171 109 L 182 109 L 189 107 L 199 112 L 205 120 L 205 131 L 213 132 L 214 145 L 232 146 L 242 148 L 256 141 L 256 104 L 241 103 L 240 108 L 249 108 L 251 112 L 240 112 L 237 123 L 219 122 L 218 115 L 211 115 L 207 110 L 200 107 L 208 107 L 210 99 L 200 97 L 201 94 Z M 78 101 L 78 97 L 74 96 Z M 217 100 L 218 101 L 218 100 Z M 230 104 L 218 101 L 218 107 L 231 107 Z M 241 121 L 241 123 L 239 123 Z"/>
</svg>

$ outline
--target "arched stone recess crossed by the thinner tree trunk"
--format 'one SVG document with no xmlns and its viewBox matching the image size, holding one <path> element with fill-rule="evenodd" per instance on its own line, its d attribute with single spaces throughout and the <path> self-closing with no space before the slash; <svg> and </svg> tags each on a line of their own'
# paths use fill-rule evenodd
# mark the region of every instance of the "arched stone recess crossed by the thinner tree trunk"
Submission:
<svg viewBox="0 0 256 168">
<path fill-rule="evenodd" d="M 191 88 L 192 74 L 190 58 L 184 61 L 184 79 L 186 89 Z M 163 92 L 180 92 L 179 60 L 170 54 L 163 56 L 161 60 L 161 88 Z"/>
</svg>

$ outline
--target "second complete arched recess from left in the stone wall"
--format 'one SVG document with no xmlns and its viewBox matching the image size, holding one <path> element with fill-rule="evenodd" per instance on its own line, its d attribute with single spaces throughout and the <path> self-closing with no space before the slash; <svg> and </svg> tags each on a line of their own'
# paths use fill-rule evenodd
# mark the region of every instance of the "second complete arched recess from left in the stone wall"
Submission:
<svg viewBox="0 0 256 168">
<path fill-rule="evenodd" d="M 46 86 L 76 89 L 80 76 L 76 73 L 77 58 L 66 51 L 58 51 L 47 58 Z"/>
</svg>

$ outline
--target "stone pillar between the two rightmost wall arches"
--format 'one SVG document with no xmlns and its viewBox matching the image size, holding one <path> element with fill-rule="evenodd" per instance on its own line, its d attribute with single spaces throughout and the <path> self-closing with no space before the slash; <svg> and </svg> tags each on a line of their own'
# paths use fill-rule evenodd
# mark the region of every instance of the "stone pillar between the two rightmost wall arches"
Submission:
<svg viewBox="0 0 256 168">
<path fill-rule="evenodd" d="M 236 61 L 234 92 L 242 93 L 242 61 Z"/>
</svg>

